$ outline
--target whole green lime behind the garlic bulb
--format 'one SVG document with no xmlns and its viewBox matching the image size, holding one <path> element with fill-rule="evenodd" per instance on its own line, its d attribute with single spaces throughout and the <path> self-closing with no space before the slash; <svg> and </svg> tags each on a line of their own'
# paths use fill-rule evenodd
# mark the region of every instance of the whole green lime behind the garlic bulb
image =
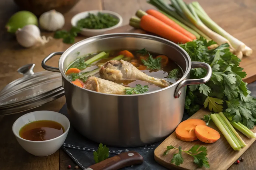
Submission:
<svg viewBox="0 0 256 170">
<path fill-rule="evenodd" d="M 23 28 L 25 25 L 38 25 L 37 17 L 29 11 L 19 11 L 11 16 L 5 28 L 7 32 L 15 33 L 18 28 Z"/>
</svg>

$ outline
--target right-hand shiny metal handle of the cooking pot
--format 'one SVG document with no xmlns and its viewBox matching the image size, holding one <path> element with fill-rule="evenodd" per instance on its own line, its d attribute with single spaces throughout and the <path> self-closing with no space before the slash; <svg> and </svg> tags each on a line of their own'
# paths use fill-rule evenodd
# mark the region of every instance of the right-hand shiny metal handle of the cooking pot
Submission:
<svg viewBox="0 0 256 170">
<path fill-rule="evenodd" d="M 207 70 L 206 76 L 201 79 L 188 79 L 188 80 L 181 81 L 175 90 L 175 98 L 180 97 L 182 87 L 192 85 L 192 84 L 203 84 L 208 82 L 211 79 L 212 69 L 209 64 L 205 62 L 193 61 L 191 62 L 191 68 L 206 68 Z"/>
</svg>

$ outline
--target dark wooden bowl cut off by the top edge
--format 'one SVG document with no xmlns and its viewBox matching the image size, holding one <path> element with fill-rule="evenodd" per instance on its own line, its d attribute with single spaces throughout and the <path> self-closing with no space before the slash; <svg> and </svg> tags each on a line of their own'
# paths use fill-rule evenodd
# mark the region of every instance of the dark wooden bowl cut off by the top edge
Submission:
<svg viewBox="0 0 256 170">
<path fill-rule="evenodd" d="M 68 12 L 80 0 L 14 0 L 14 2 L 22 9 L 27 10 L 40 16 L 42 13 L 55 9 L 64 14 Z"/>
</svg>

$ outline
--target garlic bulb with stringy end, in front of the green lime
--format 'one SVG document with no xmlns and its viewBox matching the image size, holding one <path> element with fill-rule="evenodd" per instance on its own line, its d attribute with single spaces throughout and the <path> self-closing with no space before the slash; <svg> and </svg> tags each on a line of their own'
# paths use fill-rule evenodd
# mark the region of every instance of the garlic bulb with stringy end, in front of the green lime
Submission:
<svg viewBox="0 0 256 170">
<path fill-rule="evenodd" d="M 18 43 L 23 47 L 31 47 L 37 43 L 45 44 L 52 38 L 41 37 L 40 30 L 36 25 L 26 25 L 22 29 L 19 28 L 15 34 Z"/>
</svg>

